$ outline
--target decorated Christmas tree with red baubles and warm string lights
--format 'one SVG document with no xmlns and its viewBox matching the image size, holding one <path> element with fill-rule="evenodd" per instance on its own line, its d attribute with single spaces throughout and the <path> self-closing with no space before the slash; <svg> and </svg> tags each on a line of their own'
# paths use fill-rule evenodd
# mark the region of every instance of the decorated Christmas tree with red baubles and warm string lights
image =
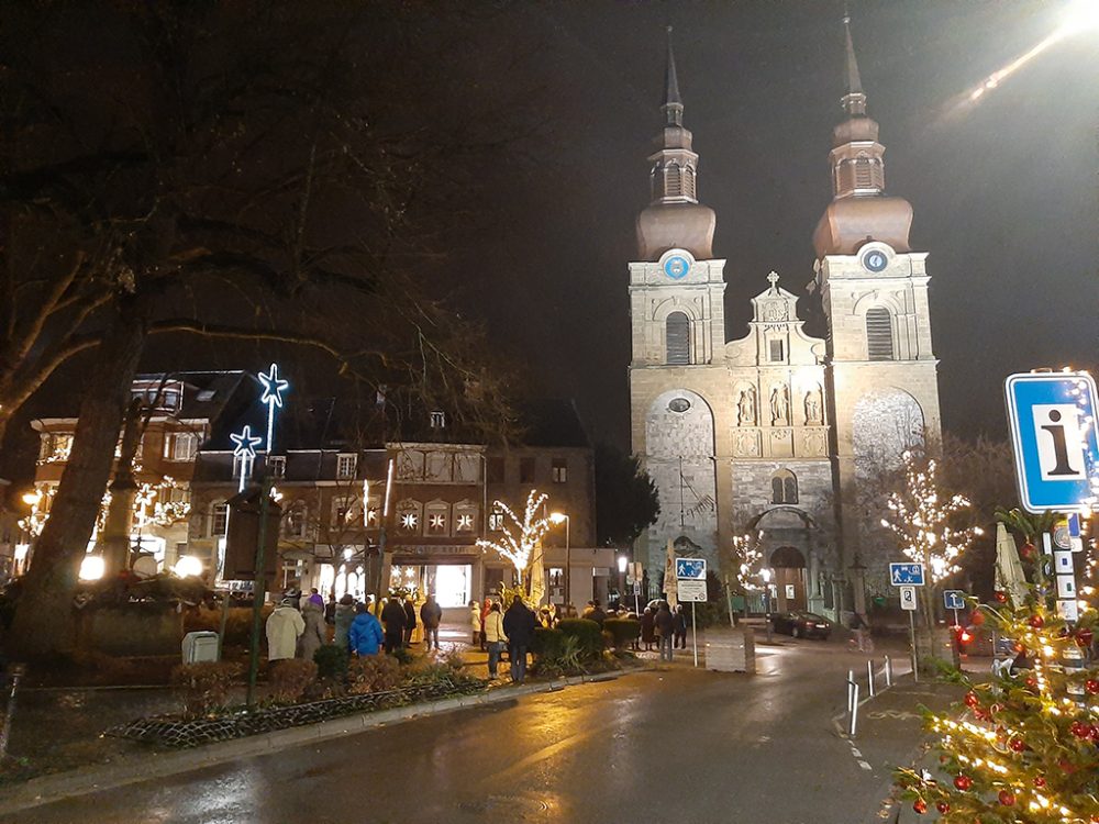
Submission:
<svg viewBox="0 0 1099 824">
<path fill-rule="evenodd" d="M 963 701 L 925 716 L 937 737 L 936 772 L 901 769 L 897 783 L 918 813 L 937 811 L 941 822 L 1099 824 L 1097 611 L 1081 601 L 1078 620 L 1064 620 L 1050 591 L 1050 556 L 1028 539 L 1022 558 L 1024 595 L 997 592 L 995 604 L 979 608 L 1013 645 L 1012 666 L 983 682 L 953 673 Z"/>
</svg>

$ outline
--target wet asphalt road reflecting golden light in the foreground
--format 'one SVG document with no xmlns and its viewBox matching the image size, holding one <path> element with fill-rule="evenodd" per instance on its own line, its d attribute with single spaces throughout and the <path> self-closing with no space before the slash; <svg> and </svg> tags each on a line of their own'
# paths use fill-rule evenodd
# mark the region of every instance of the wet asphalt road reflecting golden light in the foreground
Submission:
<svg viewBox="0 0 1099 824">
<path fill-rule="evenodd" d="M 915 722 L 857 764 L 831 717 L 854 656 L 759 650 L 759 675 L 682 668 L 420 719 L 0 822 L 875 821 Z"/>
</svg>

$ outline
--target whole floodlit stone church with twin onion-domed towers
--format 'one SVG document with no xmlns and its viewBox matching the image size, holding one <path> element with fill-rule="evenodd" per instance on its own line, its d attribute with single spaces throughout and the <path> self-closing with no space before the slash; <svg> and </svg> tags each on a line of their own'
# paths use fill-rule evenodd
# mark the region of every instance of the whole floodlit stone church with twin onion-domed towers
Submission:
<svg viewBox="0 0 1099 824">
<path fill-rule="evenodd" d="M 785 288 L 803 282 L 761 272 L 747 334 L 726 339 L 725 260 L 712 248 L 717 215 L 699 199 L 670 43 L 664 125 L 648 157 L 652 202 L 629 265 L 632 448 L 660 499 L 636 557 L 658 580 L 670 543 L 733 582 L 746 539 L 771 570 L 773 610 L 833 619 L 895 594 L 887 565 L 900 558 L 875 528 L 875 476 L 941 430 L 928 253 L 909 245 L 912 207 L 886 193 L 885 147 L 846 19 L 844 27 L 833 196 L 806 289 L 826 336 L 807 334 Z"/>
</svg>

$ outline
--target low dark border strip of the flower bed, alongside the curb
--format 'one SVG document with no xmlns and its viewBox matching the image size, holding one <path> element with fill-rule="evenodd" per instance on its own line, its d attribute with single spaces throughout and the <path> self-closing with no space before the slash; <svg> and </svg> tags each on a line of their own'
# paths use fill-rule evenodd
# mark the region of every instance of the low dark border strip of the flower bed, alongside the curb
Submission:
<svg viewBox="0 0 1099 824">
<path fill-rule="evenodd" d="M 304 704 L 262 708 L 252 711 L 236 709 L 198 719 L 185 719 L 179 715 L 154 715 L 111 727 L 107 731 L 107 735 L 181 749 L 270 733 L 276 730 L 315 724 L 329 719 L 373 712 L 390 706 L 403 706 L 452 695 L 471 694 L 484 688 L 484 683 L 474 679 L 444 679 L 433 683 L 331 698 Z"/>
</svg>

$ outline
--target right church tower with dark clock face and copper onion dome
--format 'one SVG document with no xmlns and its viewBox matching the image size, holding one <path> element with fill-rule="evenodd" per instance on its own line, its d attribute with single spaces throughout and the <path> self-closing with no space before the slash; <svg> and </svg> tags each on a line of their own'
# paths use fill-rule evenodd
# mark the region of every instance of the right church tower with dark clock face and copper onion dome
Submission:
<svg viewBox="0 0 1099 824">
<path fill-rule="evenodd" d="M 941 433 L 928 255 L 909 245 L 912 207 L 886 194 L 885 146 L 878 124 L 866 114 L 850 18 L 843 23 L 847 88 L 841 105 L 846 116 L 833 131 L 833 196 L 813 234 L 811 288 L 819 290 L 828 319 L 840 548 L 859 609 L 866 590 L 890 594 L 887 564 L 897 559 L 864 513 L 875 509 L 870 497 L 881 494 L 875 477 L 898 466 L 906 448 L 924 439 L 933 445 Z"/>
</svg>

